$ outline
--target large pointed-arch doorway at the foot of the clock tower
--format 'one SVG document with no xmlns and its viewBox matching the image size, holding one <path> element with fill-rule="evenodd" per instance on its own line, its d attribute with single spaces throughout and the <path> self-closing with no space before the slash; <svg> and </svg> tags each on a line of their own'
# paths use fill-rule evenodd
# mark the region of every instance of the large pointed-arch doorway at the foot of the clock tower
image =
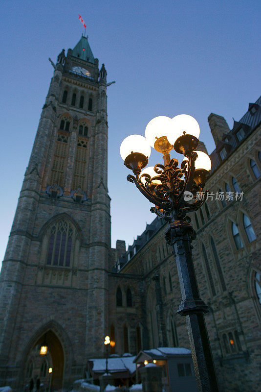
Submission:
<svg viewBox="0 0 261 392">
<path fill-rule="evenodd" d="M 47 346 L 47 353 L 40 354 L 42 345 Z M 46 391 L 57 391 L 63 388 L 65 355 L 63 346 L 52 331 L 45 332 L 33 345 L 26 359 L 25 384 L 39 377 Z M 49 369 L 51 368 L 51 371 Z"/>
</svg>

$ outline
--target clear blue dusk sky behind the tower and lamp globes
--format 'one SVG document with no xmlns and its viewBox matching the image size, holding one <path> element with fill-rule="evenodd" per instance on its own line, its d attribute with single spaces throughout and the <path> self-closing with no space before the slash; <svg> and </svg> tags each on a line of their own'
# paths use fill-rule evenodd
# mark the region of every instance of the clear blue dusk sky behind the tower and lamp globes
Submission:
<svg viewBox="0 0 261 392">
<path fill-rule="evenodd" d="M 119 154 L 122 140 L 144 136 L 156 116 L 190 114 L 208 152 L 215 148 L 207 118 L 230 128 L 261 94 L 261 2 L 247 1 L 5 1 L 1 3 L 0 260 L 53 68 L 61 49 L 84 32 L 105 64 L 109 123 L 111 245 L 133 243 L 155 216 Z M 182 156 L 179 155 L 182 160 Z M 162 163 L 154 152 L 149 166 Z"/>
</svg>

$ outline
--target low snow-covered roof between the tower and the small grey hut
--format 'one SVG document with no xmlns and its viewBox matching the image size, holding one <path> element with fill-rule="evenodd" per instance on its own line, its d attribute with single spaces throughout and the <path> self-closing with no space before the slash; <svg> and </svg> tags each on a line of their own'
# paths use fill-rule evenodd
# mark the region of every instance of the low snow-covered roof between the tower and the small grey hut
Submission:
<svg viewBox="0 0 261 392">
<path fill-rule="evenodd" d="M 130 357 L 119 357 L 119 358 L 108 358 L 108 371 L 109 373 L 115 373 L 117 371 L 128 371 L 130 374 L 136 370 L 135 364 L 133 364 L 134 355 Z M 93 362 L 93 372 L 104 372 L 106 369 L 106 359 L 90 359 L 88 362 Z"/>
</svg>

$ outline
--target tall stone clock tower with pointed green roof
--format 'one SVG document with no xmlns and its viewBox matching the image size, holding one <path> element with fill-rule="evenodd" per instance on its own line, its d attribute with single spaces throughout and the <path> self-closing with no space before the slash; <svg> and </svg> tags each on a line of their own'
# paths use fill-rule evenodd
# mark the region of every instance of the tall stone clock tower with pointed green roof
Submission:
<svg viewBox="0 0 261 392">
<path fill-rule="evenodd" d="M 107 73 L 84 36 L 52 66 L 0 274 L 0 385 L 15 390 L 66 388 L 107 334 Z"/>
</svg>

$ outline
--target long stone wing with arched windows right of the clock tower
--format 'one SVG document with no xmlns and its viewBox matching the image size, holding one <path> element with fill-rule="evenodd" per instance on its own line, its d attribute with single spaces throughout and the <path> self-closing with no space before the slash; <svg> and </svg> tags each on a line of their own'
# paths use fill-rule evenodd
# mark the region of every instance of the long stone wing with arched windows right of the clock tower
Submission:
<svg viewBox="0 0 261 392">
<path fill-rule="evenodd" d="M 219 390 L 260 391 L 261 98 L 231 130 L 221 116 L 208 120 L 216 143 L 205 187 L 211 193 L 191 214 L 200 297 L 210 308 L 205 319 Z M 206 151 L 203 143 L 199 149 Z M 110 273 L 109 322 L 119 351 L 189 347 L 185 318 L 176 315 L 181 294 L 167 226 L 159 218 L 147 224 Z"/>
</svg>

